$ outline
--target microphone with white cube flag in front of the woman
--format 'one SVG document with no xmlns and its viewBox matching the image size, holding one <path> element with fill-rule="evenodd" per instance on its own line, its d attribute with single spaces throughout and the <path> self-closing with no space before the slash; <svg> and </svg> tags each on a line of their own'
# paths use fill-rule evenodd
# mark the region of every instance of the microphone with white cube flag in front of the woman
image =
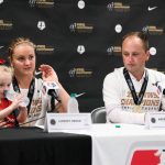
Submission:
<svg viewBox="0 0 165 165">
<path fill-rule="evenodd" d="M 42 92 L 44 96 L 50 95 L 52 98 L 56 99 L 58 102 L 59 87 L 54 81 L 44 81 Z"/>
</svg>

